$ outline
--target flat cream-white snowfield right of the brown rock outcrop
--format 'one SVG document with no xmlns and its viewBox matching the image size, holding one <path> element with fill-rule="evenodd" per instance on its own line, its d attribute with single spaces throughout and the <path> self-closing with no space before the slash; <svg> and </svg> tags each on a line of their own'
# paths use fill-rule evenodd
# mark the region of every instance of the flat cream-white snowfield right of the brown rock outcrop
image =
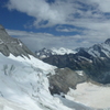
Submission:
<svg viewBox="0 0 110 110">
<path fill-rule="evenodd" d="M 103 87 L 103 86 L 94 85 L 91 82 L 84 82 L 84 84 L 79 84 L 76 90 L 70 89 L 68 96 L 72 96 L 74 98 L 72 100 L 88 107 L 106 109 L 106 110 L 110 109 L 109 86 Z"/>
</svg>

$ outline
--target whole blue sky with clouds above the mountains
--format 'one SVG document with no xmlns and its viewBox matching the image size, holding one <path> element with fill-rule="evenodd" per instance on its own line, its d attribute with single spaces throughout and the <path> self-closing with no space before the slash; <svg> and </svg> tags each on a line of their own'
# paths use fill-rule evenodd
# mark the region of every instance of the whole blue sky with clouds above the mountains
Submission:
<svg viewBox="0 0 110 110">
<path fill-rule="evenodd" d="M 110 38 L 110 0 L 0 0 L 0 24 L 33 52 Z"/>
</svg>

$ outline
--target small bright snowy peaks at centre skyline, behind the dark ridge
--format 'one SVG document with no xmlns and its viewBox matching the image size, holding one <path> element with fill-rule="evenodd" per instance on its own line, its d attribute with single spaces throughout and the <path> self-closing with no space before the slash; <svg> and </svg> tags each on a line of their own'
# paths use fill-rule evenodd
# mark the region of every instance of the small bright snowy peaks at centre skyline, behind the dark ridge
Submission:
<svg viewBox="0 0 110 110">
<path fill-rule="evenodd" d="M 75 54 L 75 53 L 76 51 L 64 48 L 64 47 L 61 47 L 61 48 L 53 47 L 51 50 L 47 50 L 44 47 L 35 52 L 36 56 L 41 59 L 50 57 L 52 55 L 65 55 L 65 54 Z"/>
</svg>

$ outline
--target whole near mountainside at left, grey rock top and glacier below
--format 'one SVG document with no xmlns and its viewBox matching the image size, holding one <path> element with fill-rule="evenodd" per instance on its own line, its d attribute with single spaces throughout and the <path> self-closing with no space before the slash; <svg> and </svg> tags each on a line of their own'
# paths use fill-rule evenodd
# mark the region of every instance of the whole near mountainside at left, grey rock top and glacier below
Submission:
<svg viewBox="0 0 110 110">
<path fill-rule="evenodd" d="M 70 98 L 52 96 L 48 77 L 56 67 L 37 59 L 1 25 L 0 40 L 0 110 L 92 110 Z"/>
</svg>

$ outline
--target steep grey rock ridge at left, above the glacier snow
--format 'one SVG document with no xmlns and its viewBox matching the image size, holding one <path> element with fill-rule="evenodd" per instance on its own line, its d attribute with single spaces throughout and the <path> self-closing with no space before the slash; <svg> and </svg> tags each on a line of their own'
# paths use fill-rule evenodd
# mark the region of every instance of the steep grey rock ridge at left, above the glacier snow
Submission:
<svg viewBox="0 0 110 110">
<path fill-rule="evenodd" d="M 26 57 L 29 57 L 28 54 L 34 55 L 20 40 L 9 36 L 2 25 L 0 25 L 0 52 L 6 56 L 10 53 Z"/>
</svg>

